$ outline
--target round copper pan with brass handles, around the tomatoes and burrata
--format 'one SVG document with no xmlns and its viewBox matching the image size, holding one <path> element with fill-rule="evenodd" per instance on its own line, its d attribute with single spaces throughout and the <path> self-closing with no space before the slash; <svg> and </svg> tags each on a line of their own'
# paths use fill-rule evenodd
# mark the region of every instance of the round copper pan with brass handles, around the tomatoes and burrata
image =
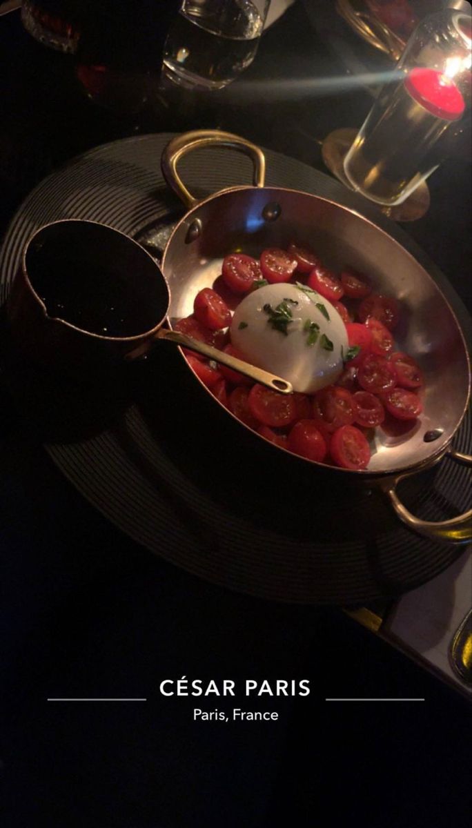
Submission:
<svg viewBox="0 0 472 828">
<path fill-rule="evenodd" d="M 232 147 L 247 154 L 253 161 L 253 186 L 232 187 L 197 200 L 181 181 L 177 165 L 200 147 Z M 472 464 L 470 456 L 451 446 L 469 400 L 469 356 L 455 314 L 429 273 L 388 233 L 353 209 L 298 190 L 265 187 L 263 153 L 242 137 L 211 130 L 185 133 L 167 145 L 161 167 L 168 185 L 189 209 L 172 233 L 161 263 L 171 291 L 170 325 L 192 312 L 198 291 L 214 285 L 227 253 L 240 249 L 257 256 L 265 247 L 283 248 L 291 241 L 309 243 L 335 270 L 349 263 L 370 273 L 378 292 L 401 301 L 402 320 L 395 335 L 398 346 L 415 356 L 425 374 L 421 419 L 402 435 L 378 430 L 366 470 L 301 462 L 311 463 L 315 475 L 329 472 L 338 479 L 344 475 L 346 483 L 378 485 L 400 520 L 421 535 L 452 543 L 470 541 L 472 510 L 450 520 L 426 522 L 408 512 L 397 495 L 400 480 L 446 455 Z M 202 391 L 207 392 L 203 384 Z M 233 416 L 216 400 L 214 406 L 215 416 L 222 411 Z M 253 439 L 263 438 L 254 434 Z M 280 453 L 281 464 L 294 459 L 284 449 L 271 448 Z"/>
</svg>

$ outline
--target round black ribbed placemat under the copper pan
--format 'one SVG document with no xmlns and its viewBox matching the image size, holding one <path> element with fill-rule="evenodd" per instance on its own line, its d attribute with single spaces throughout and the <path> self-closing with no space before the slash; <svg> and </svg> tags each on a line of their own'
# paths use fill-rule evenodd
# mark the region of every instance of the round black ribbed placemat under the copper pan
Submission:
<svg viewBox="0 0 472 828">
<path fill-rule="evenodd" d="M 160 171 L 170 137 L 98 147 L 41 182 L 7 231 L 0 300 L 26 238 L 47 221 L 94 219 L 139 237 L 175 215 L 180 206 Z M 212 192 L 251 177 L 248 159 L 224 150 L 187 156 L 181 170 L 194 191 Z M 446 278 L 377 209 L 274 152 L 267 152 L 267 185 L 323 195 L 367 214 L 436 278 L 468 334 L 469 317 Z M 158 359 L 127 376 L 123 394 L 110 391 L 107 401 L 117 404 L 110 405 L 109 417 L 103 398 L 94 401 L 91 394 L 86 407 L 92 413 L 95 407 L 104 426 L 90 428 L 88 436 L 81 436 L 87 392 L 35 377 L 44 397 L 38 411 L 45 419 L 54 412 L 68 426 L 62 436 L 47 438 L 55 464 L 123 532 L 195 575 L 267 599 L 357 604 L 410 590 L 459 554 L 408 532 L 376 489 L 340 491 L 302 461 L 288 472 L 276 449 L 254 447 L 245 429 L 215 411 L 174 350 L 162 349 Z M 17 392 L 13 379 L 11 384 Z M 27 393 L 18 399 L 26 409 Z M 466 418 L 455 440 L 460 450 L 470 450 L 470 431 Z M 466 474 L 446 460 L 403 484 L 402 495 L 421 517 L 450 517 L 468 507 Z"/>
</svg>

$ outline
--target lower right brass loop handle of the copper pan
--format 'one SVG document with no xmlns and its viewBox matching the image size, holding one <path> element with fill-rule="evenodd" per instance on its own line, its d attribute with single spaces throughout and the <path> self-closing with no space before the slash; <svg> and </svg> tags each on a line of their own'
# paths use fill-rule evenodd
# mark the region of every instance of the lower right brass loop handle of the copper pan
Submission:
<svg viewBox="0 0 472 828">
<path fill-rule="evenodd" d="M 463 455 L 455 449 L 450 449 L 448 452 L 451 460 L 456 460 L 463 465 L 472 465 L 472 457 L 470 455 Z M 382 485 L 383 492 L 387 495 L 393 509 L 397 513 L 400 520 L 407 525 L 414 532 L 418 532 L 424 537 L 429 537 L 431 541 L 446 541 L 449 543 L 468 543 L 472 541 L 472 509 L 469 509 L 462 515 L 451 517 L 450 520 L 443 520 L 431 522 L 421 520 L 420 517 L 415 517 L 407 508 L 403 506 L 402 501 L 398 498 L 396 489 L 400 480 L 409 477 L 408 474 L 402 474 L 394 480 L 388 480 Z"/>
</svg>

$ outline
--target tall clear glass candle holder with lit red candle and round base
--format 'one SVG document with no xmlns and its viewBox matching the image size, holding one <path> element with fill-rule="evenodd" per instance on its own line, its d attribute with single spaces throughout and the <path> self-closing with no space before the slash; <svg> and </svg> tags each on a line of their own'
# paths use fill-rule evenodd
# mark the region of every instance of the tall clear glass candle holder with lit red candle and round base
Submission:
<svg viewBox="0 0 472 828">
<path fill-rule="evenodd" d="M 336 130 L 323 144 L 335 176 L 397 220 L 426 212 L 426 178 L 469 117 L 471 21 L 451 9 L 426 17 L 357 135 Z"/>
</svg>

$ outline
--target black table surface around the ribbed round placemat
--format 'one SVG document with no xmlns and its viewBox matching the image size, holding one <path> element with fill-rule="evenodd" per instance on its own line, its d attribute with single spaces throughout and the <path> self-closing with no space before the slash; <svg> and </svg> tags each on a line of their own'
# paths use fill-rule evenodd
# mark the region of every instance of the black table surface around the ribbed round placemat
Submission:
<svg viewBox="0 0 472 828">
<path fill-rule="evenodd" d="M 2 17 L 2 231 L 47 173 L 135 134 L 224 128 L 323 169 L 317 141 L 359 126 L 371 102 L 360 86 L 321 94 L 313 83 L 349 70 L 314 25 L 326 25 L 325 5 L 296 2 L 233 88 L 163 97 L 150 75 L 147 102 L 128 99 L 121 112 L 91 103 L 74 59 L 33 41 L 17 12 Z M 347 28 L 342 36 L 375 70 L 368 47 Z M 287 78 L 311 84 L 284 93 Z M 264 79 L 270 94 L 257 85 L 246 94 Z M 430 211 L 405 227 L 470 307 L 464 152 L 431 177 Z M 157 559 L 72 489 L 6 392 L 0 424 L 7 828 L 466 825 L 467 701 L 340 609 L 236 595 Z M 312 690 L 254 700 L 254 710 L 277 710 L 277 723 L 202 724 L 192 721 L 194 700 L 159 695 L 162 679 L 181 676 L 309 678 Z M 148 701 L 58 705 L 51 696 Z M 339 696 L 426 701 L 325 702 Z"/>
</svg>

